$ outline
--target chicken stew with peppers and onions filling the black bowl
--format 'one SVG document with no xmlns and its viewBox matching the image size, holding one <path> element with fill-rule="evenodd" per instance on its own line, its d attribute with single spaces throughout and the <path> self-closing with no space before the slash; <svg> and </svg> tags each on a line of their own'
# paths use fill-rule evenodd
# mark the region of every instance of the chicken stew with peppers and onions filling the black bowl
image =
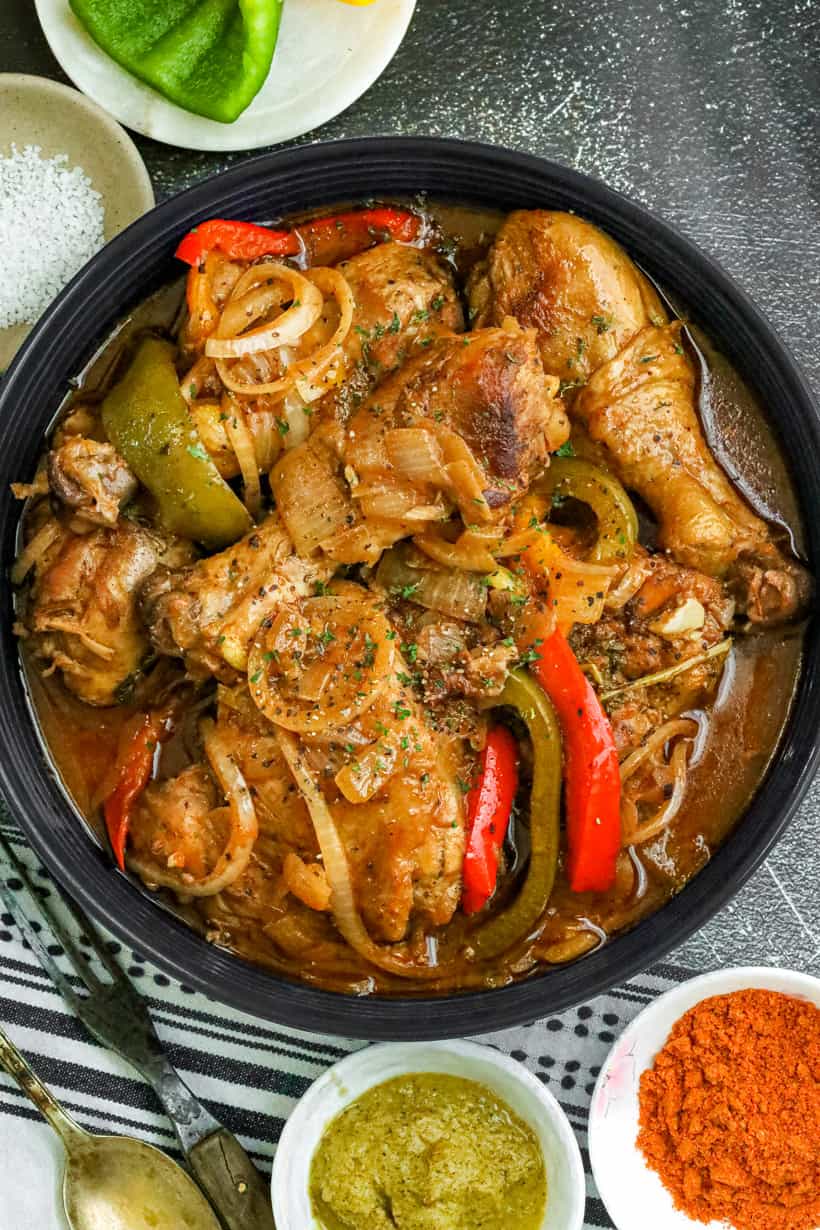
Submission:
<svg viewBox="0 0 820 1230">
<path fill-rule="evenodd" d="M 177 255 L 184 301 L 17 488 L 34 707 L 113 859 L 357 994 L 503 985 L 658 909 L 799 670 L 799 517 L 740 379 L 570 214 L 215 220 Z"/>
</svg>

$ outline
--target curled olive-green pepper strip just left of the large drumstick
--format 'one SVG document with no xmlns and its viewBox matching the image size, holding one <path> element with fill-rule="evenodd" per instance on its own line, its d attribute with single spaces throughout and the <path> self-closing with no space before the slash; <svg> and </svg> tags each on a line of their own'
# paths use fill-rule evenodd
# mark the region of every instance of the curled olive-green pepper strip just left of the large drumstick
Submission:
<svg viewBox="0 0 820 1230">
<path fill-rule="evenodd" d="M 536 491 L 552 499 L 579 499 L 597 520 L 597 540 L 589 558 L 594 563 L 628 560 L 638 541 L 638 517 L 613 475 L 583 458 L 553 456 Z"/>
</svg>

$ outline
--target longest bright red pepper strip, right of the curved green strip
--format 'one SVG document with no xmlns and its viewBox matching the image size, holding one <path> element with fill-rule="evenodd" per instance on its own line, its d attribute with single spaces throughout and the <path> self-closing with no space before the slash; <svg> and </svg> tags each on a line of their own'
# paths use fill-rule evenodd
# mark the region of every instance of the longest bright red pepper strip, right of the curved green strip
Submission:
<svg viewBox="0 0 820 1230">
<path fill-rule="evenodd" d="M 530 629 L 532 629 L 530 622 Z M 530 669 L 558 715 L 563 737 L 567 873 L 574 893 L 602 893 L 621 849 L 621 772 L 610 720 L 563 632 L 545 619 L 530 641 Z"/>
</svg>

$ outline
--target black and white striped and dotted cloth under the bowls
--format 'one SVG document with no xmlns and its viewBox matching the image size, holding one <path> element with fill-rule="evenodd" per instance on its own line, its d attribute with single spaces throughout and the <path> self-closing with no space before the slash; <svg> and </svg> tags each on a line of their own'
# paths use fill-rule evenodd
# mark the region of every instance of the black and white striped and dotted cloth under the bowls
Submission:
<svg viewBox="0 0 820 1230">
<path fill-rule="evenodd" d="M 60 911 L 53 881 L 20 831 L 7 822 L 2 830 L 36 891 L 71 927 L 68 913 Z M 296 1100 L 329 1064 L 365 1043 L 277 1028 L 235 1012 L 172 982 L 113 936 L 107 938 L 148 1000 L 175 1065 L 197 1096 L 236 1133 L 259 1168 L 269 1172 L 279 1133 Z M 476 1039 L 525 1064 L 564 1107 L 588 1171 L 589 1230 L 612 1225 L 589 1177 L 586 1114 L 595 1077 L 627 1022 L 649 1000 L 691 974 L 675 966 L 656 966 L 581 1007 Z M 173 1132 L 151 1090 L 71 1016 L 7 914 L 0 925 L 0 1020 L 84 1127 L 141 1137 L 178 1157 Z M 60 1173 L 57 1138 L 11 1079 L 0 1073 L 0 1230 L 65 1230 Z"/>
</svg>

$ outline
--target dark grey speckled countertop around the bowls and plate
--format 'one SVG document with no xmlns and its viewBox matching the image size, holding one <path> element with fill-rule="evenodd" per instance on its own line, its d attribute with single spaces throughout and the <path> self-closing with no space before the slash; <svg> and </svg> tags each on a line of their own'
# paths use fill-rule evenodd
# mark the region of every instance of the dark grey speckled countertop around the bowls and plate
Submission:
<svg viewBox="0 0 820 1230">
<path fill-rule="evenodd" d="M 65 80 L 31 0 L 0 71 Z M 814 0 L 419 0 L 384 76 L 304 140 L 441 134 L 541 154 L 675 223 L 767 312 L 820 390 L 820 7 Z M 243 155 L 136 138 L 157 197 Z M 820 973 L 820 782 L 766 865 L 676 954 Z"/>
</svg>

